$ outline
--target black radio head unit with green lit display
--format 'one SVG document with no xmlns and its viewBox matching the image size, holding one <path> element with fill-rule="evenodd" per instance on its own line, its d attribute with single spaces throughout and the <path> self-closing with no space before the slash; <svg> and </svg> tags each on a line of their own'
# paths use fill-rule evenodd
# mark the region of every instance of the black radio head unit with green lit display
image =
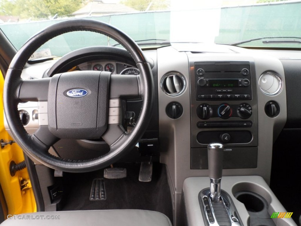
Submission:
<svg viewBox="0 0 301 226">
<path fill-rule="evenodd" d="M 195 63 L 196 99 L 252 99 L 249 62 Z"/>
</svg>

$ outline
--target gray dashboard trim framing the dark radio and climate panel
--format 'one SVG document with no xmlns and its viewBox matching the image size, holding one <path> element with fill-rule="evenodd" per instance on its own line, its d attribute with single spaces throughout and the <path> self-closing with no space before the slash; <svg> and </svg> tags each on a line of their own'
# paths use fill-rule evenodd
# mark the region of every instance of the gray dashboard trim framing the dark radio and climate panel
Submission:
<svg viewBox="0 0 301 226">
<path fill-rule="evenodd" d="M 269 55 L 264 55 L 251 50 L 243 50 L 241 53 L 194 53 L 194 59 L 201 61 L 251 61 L 255 65 L 255 77 L 264 71 L 275 71 L 285 83 L 284 70 L 281 61 Z M 178 71 L 185 76 L 188 84 L 189 78 L 189 53 L 177 52 L 171 46 L 157 50 L 158 55 L 158 81 L 169 71 Z M 195 61 L 195 60 L 194 60 Z M 259 91 L 258 82 L 256 85 L 257 111 L 258 111 L 258 160 L 257 168 L 252 169 L 225 169 L 223 176 L 233 175 L 260 175 L 269 184 L 272 164 L 272 144 L 284 127 L 287 118 L 286 89 L 271 97 Z M 158 83 L 158 86 L 160 84 Z M 208 170 L 191 170 L 190 168 L 190 148 L 191 148 L 191 100 L 190 88 L 186 89 L 182 95 L 170 97 L 158 89 L 159 100 L 159 134 L 160 134 L 160 160 L 169 169 L 172 181 L 172 189 L 175 190 L 175 216 L 180 216 L 180 200 L 183 182 L 187 177 L 208 176 Z M 265 115 L 264 106 L 268 101 L 276 101 L 281 107 L 280 114 L 275 118 Z M 183 106 L 183 115 L 178 119 L 168 118 L 165 113 L 166 105 L 169 102 L 177 101 Z M 175 219 L 177 225 L 179 219 Z"/>
</svg>

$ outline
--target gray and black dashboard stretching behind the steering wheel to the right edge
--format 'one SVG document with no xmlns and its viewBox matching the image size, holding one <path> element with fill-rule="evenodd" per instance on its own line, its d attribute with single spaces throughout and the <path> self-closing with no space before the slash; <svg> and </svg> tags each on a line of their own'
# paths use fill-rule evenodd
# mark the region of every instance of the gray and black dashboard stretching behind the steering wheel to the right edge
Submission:
<svg viewBox="0 0 301 226">
<path fill-rule="evenodd" d="M 28 65 L 22 78 L 48 77 L 57 73 L 51 71 L 54 67 L 58 72 L 137 74 L 135 63 L 123 51 L 110 55 L 109 50 L 101 54 L 88 49 L 76 53 L 80 60 L 71 54 Z M 296 111 L 288 110 L 301 99 L 294 85 L 299 81 L 297 52 L 181 43 L 144 53 L 151 62 L 156 103 L 143 139 L 152 147 L 147 154 L 168 166 L 174 202 L 180 202 L 185 178 L 207 176 L 206 146 L 210 142 L 225 145 L 223 175 L 260 175 L 268 182 L 274 141 L 285 125 L 300 123 Z M 291 88 L 287 90 L 288 84 Z M 37 102 L 20 103 L 18 108 L 28 133 L 47 120 L 39 118 Z M 134 112 L 136 118 L 140 108 L 140 100 L 126 103 L 126 111 Z M 6 122 L 5 127 L 9 132 Z M 62 146 L 66 151 L 58 148 Z M 62 158 L 85 159 L 104 154 L 108 148 L 101 139 L 60 140 L 50 152 Z M 132 155 L 141 157 L 137 152 Z"/>
</svg>

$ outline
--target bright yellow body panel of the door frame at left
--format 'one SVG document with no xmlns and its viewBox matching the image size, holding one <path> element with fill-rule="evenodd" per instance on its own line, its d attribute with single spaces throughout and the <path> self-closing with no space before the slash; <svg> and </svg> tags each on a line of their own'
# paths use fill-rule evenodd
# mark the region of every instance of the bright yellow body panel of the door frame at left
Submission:
<svg viewBox="0 0 301 226">
<path fill-rule="evenodd" d="M 3 85 L 4 79 L 0 71 L 0 108 L 2 108 L 0 109 L 0 139 L 7 142 L 13 139 L 4 127 Z M 36 202 L 32 188 L 24 189 L 23 192 L 20 188 L 20 180 L 29 180 L 27 169 L 17 171 L 13 177 L 9 172 L 11 161 L 19 163 L 23 160 L 23 151 L 17 143 L 6 145 L 3 149 L 0 149 L 0 184 L 8 207 L 8 214 L 36 212 Z"/>
</svg>

